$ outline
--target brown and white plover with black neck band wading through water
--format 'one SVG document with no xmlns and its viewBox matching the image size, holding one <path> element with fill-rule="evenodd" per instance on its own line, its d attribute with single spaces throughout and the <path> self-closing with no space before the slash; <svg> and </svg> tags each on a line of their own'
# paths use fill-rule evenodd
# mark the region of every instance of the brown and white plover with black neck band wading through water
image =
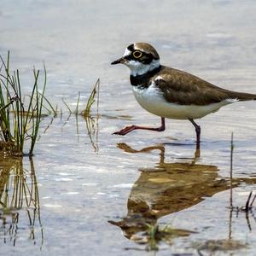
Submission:
<svg viewBox="0 0 256 256">
<path fill-rule="evenodd" d="M 256 94 L 226 90 L 191 73 L 160 64 L 160 55 L 151 44 L 130 44 L 111 65 L 124 64 L 131 70 L 133 95 L 142 108 L 160 116 L 160 127 L 129 125 L 113 134 L 134 130 L 165 131 L 166 119 L 186 119 L 195 127 L 196 147 L 200 148 L 201 119 L 235 102 L 256 100 Z"/>
</svg>

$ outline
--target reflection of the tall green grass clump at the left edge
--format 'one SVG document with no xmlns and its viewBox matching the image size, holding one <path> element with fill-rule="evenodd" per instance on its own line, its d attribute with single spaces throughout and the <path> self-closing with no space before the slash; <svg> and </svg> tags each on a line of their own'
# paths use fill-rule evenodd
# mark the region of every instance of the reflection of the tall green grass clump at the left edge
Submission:
<svg viewBox="0 0 256 256">
<path fill-rule="evenodd" d="M 26 170 L 22 158 L 0 157 L 0 238 L 17 246 L 20 236 L 27 232 L 41 248 L 44 234 L 38 183 L 32 159 L 29 164 L 30 170 Z M 28 230 L 22 228 L 24 223 Z"/>
</svg>

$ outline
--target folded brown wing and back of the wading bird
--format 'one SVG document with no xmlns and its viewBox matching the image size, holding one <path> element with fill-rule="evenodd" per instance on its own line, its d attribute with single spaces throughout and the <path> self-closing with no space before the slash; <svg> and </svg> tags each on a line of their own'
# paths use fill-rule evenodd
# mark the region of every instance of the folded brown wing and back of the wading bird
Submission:
<svg viewBox="0 0 256 256">
<path fill-rule="evenodd" d="M 156 79 L 157 76 L 160 77 Z M 163 67 L 157 76 L 154 77 L 155 84 L 163 91 L 167 102 L 181 105 L 207 105 L 225 99 L 237 98 L 241 101 L 256 99 L 255 95 L 224 90 L 190 73 L 170 67 Z"/>
</svg>

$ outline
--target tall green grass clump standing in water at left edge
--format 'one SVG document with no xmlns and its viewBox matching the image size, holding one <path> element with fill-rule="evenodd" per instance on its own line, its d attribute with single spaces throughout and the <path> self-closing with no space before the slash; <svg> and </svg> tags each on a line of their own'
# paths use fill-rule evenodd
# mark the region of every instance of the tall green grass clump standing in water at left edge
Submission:
<svg viewBox="0 0 256 256">
<path fill-rule="evenodd" d="M 32 91 L 25 106 L 21 92 L 19 70 L 14 72 L 9 68 L 9 53 L 7 61 L 1 57 L 0 70 L 0 140 L 13 143 L 13 154 L 24 154 L 24 144 L 30 140 L 29 154 L 32 155 L 38 129 L 42 119 L 44 90 L 46 86 L 46 70 L 44 67 L 44 85 L 39 91 L 39 70 L 33 69 Z"/>
</svg>

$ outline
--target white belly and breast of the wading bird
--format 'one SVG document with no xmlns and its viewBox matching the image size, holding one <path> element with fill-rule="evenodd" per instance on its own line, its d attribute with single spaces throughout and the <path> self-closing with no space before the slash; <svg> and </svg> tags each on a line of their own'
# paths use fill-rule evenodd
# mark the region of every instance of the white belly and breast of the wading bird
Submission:
<svg viewBox="0 0 256 256">
<path fill-rule="evenodd" d="M 236 102 L 228 99 L 223 102 L 212 103 L 207 106 L 179 105 L 177 103 L 166 102 L 160 90 L 154 84 L 148 89 L 139 89 L 132 86 L 133 94 L 137 102 L 148 112 L 168 119 L 200 119 L 208 113 L 218 111 L 224 105 Z"/>
</svg>

